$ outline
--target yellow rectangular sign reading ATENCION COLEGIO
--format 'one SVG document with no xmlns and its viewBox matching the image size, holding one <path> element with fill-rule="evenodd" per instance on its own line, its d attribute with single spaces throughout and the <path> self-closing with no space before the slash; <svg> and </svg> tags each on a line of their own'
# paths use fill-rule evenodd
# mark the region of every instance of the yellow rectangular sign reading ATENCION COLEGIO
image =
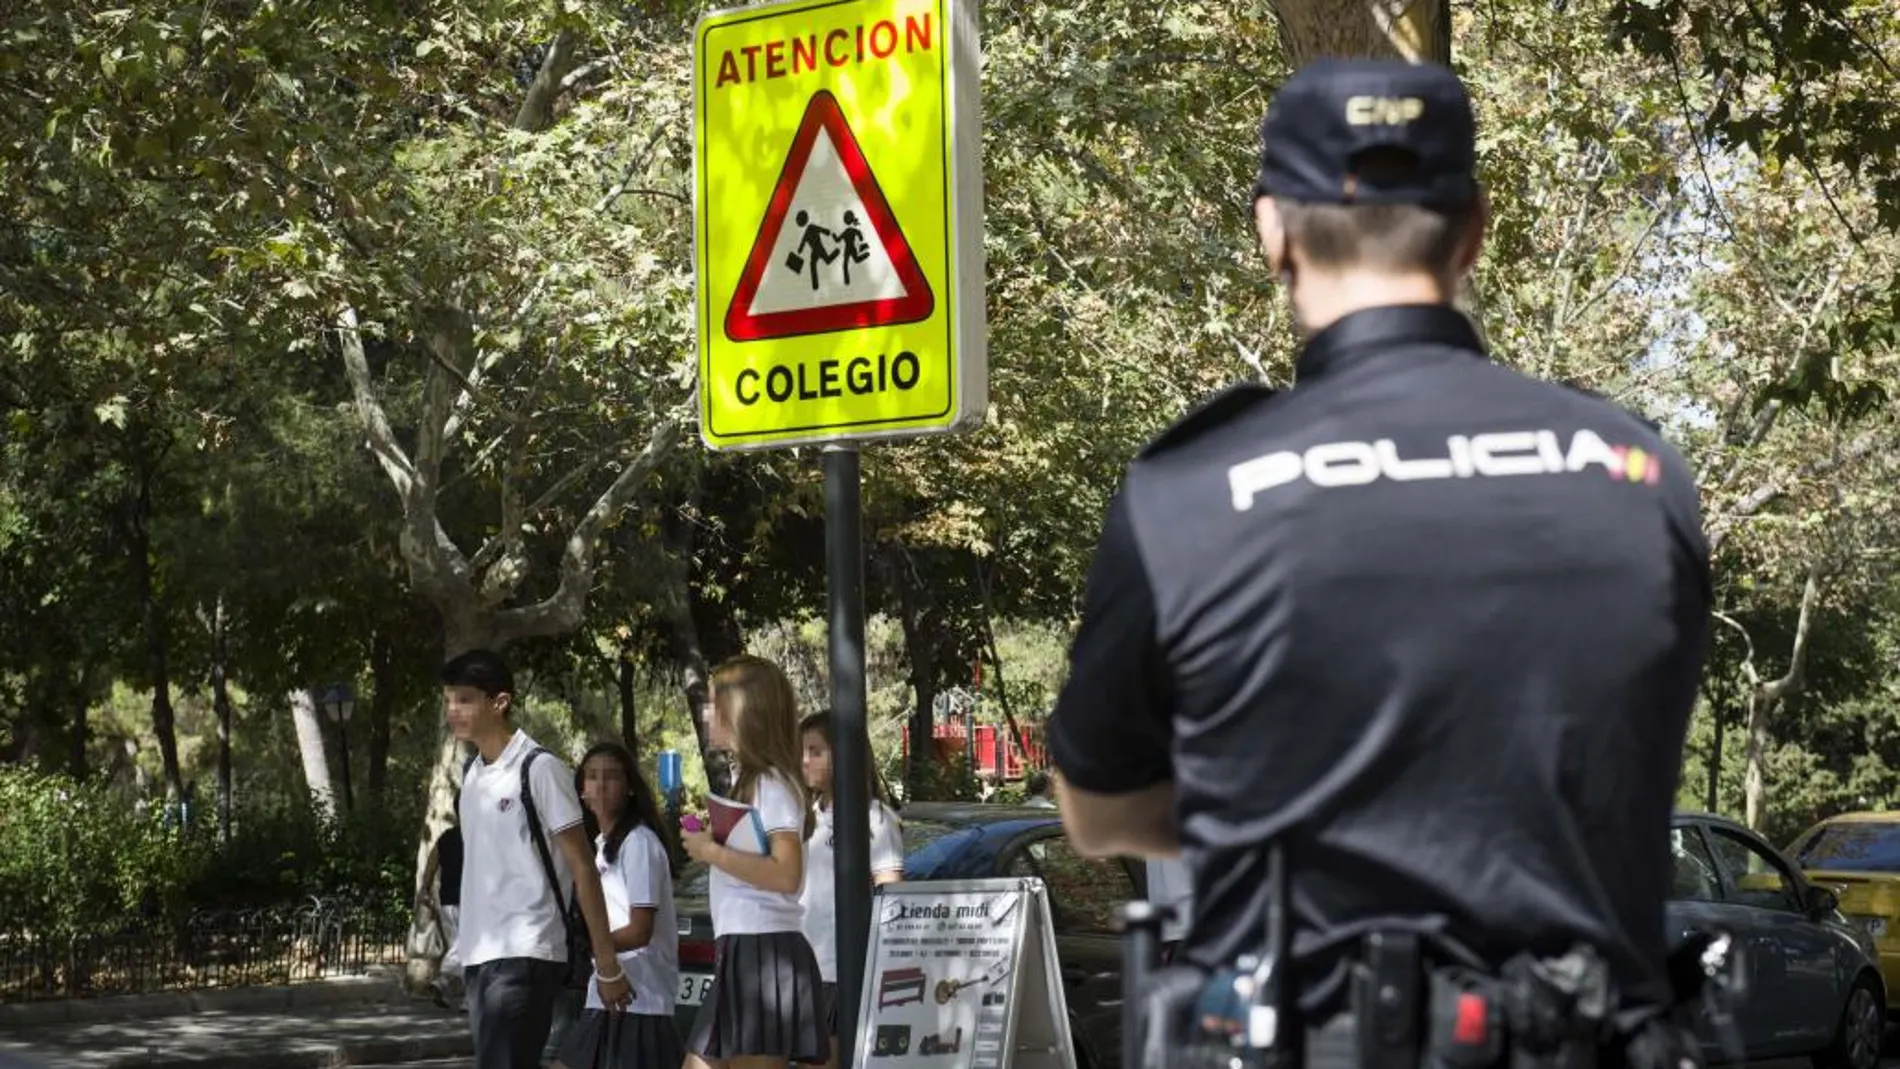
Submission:
<svg viewBox="0 0 1900 1069">
<path fill-rule="evenodd" d="M 960 431 L 988 406 L 973 0 L 787 0 L 694 40 L 699 435 Z"/>
</svg>

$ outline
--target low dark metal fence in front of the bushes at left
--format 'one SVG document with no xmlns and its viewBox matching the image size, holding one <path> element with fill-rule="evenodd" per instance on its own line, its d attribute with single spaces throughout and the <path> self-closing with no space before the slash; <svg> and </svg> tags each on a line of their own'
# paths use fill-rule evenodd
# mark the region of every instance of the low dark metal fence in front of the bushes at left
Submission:
<svg viewBox="0 0 1900 1069">
<path fill-rule="evenodd" d="M 397 911 L 323 898 L 76 936 L 0 932 L 0 1003 L 353 976 L 399 965 L 407 938 L 408 921 Z"/>
</svg>

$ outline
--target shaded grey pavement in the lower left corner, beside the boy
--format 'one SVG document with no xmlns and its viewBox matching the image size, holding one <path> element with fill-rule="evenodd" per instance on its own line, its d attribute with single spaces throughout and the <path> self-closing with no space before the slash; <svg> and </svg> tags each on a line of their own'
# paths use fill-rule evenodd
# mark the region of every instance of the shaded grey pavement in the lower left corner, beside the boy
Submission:
<svg viewBox="0 0 1900 1069">
<path fill-rule="evenodd" d="M 32 1069 L 306 1069 L 467 1058 L 462 1014 L 403 995 L 388 982 L 329 982 L 165 997 L 165 1016 L 141 1014 L 152 999 L 97 999 L 0 1016 L 0 1065 Z M 116 1003 L 116 1004 L 114 1004 Z M 8 1008 L 21 1010 L 21 1008 Z"/>
</svg>

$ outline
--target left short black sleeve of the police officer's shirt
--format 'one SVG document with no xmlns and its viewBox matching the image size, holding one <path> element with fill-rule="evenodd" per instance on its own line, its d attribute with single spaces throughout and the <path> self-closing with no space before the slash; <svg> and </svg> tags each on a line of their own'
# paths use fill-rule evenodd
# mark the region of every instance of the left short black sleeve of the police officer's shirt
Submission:
<svg viewBox="0 0 1900 1069">
<path fill-rule="evenodd" d="M 1130 794 L 1174 775 L 1168 670 L 1155 640 L 1155 592 L 1117 494 L 1089 564 L 1070 676 L 1049 722 L 1062 777 L 1096 794 Z"/>
</svg>

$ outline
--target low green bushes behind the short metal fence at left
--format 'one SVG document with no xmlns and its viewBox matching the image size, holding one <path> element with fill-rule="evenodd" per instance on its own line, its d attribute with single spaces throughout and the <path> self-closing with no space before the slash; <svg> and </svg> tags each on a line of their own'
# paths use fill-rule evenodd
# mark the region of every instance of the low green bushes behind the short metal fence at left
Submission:
<svg viewBox="0 0 1900 1069">
<path fill-rule="evenodd" d="M 420 799 L 331 818 L 308 799 L 256 799 L 218 841 L 213 797 L 182 828 L 101 784 L 0 769 L 0 930 L 74 934 L 122 921 L 308 896 L 407 908 Z"/>
</svg>

